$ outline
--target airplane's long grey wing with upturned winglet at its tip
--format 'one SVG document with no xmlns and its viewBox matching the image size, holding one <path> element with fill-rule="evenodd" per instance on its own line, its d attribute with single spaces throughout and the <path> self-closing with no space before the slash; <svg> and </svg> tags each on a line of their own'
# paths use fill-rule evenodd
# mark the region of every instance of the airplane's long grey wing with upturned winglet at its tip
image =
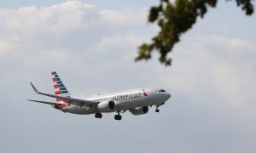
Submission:
<svg viewBox="0 0 256 153">
<path fill-rule="evenodd" d="M 48 96 L 48 97 L 52 97 L 52 98 L 57 98 L 57 99 L 63 99 L 64 102 L 68 103 L 68 104 L 72 104 L 72 105 L 86 105 L 89 107 L 96 107 L 98 105 L 98 102 L 95 101 L 91 101 L 91 100 L 86 100 L 86 99 L 75 99 L 75 98 L 70 98 L 70 97 L 64 97 L 64 96 L 58 96 L 55 94 L 45 94 L 45 93 L 41 93 L 38 91 L 37 88 L 35 88 L 35 86 L 32 84 L 32 82 L 30 82 L 32 85 L 32 88 L 34 89 L 36 94 L 42 94 L 44 96 Z"/>
</svg>

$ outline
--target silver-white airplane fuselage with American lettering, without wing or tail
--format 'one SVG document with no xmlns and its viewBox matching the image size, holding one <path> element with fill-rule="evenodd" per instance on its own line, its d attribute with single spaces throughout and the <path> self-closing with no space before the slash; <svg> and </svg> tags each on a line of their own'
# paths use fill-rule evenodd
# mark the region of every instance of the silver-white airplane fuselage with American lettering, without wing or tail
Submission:
<svg viewBox="0 0 256 153">
<path fill-rule="evenodd" d="M 59 108 L 63 112 L 73 114 L 95 114 L 96 112 L 127 111 L 137 107 L 161 105 L 171 97 L 166 91 L 160 88 L 137 88 L 113 94 L 98 94 L 88 100 L 99 103 L 113 101 L 115 107 L 112 111 L 99 111 L 97 108 L 79 105 L 67 105 Z"/>
</svg>

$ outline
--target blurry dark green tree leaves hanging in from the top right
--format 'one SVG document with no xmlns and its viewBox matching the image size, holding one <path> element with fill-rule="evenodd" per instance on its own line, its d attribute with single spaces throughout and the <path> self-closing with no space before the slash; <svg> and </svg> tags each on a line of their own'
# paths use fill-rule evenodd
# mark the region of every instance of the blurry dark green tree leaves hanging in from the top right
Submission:
<svg viewBox="0 0 256 153">
<path fill-rule="evenodd" d="M 232 1 L 232 0 L 226 0 Z M 247 15 L 253 14 L 253 0 L 236 0 L 238 7 Z M 157 22 L 160 31 L 152 38 L 151 43 L 143 43 L 139 47 L 136 60 L 150 59 L 153 51 L 160 54 L 160 63 L 171 65 L 167 57 L 182 33 L 188 31 L 196 22 L 197 17 L 203 18 L 208 8 L 215 8 L 218 0 L 160 0 L 159 6 L 150 8 L 148 22 Z"/>
</svg>

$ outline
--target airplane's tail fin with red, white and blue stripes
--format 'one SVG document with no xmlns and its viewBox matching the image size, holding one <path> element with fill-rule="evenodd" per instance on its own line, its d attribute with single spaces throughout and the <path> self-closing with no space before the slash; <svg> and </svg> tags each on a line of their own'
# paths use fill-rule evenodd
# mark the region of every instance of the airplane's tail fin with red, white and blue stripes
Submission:
<svg viewBox="0 0 256 153">
<path fill-rule="evenodd" d="M 57 75 L 55 71 L 51 72 L 52 81 L 55 88 L 55 95 L 61 95 L 65 97 L 70 97 L 67 88 L 61 82 L 61 78 Z M 63 99 L 56 99 L 57 102 L 63 102 Z"/>
</svg>

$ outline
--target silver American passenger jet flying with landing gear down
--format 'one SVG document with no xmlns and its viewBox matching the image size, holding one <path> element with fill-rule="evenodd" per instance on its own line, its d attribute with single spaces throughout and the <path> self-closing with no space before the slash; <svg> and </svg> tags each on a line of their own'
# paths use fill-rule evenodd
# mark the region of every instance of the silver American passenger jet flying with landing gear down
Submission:
<svg viewBox="0 0 256 153">
<path fill-rule="evenodd" d="M 39 92 L 31 83 L 36 94 L 41 94 L 55 98 L 56 102 L 40 101 L 28 99 L 32 102 L 51 105 L 53 108 L 79 115 L 95 114 L 96 118 L 102 118 L 102 113 L 117 112 L 115 120 L 121 120 L 120 113 L 130 111 L 132 115 L 138 116 L 148 113 L 148 106 L 155 105 L 155 112 L 159 112 L 160 105 L 165 105 L 170 99 L 171 94 L 162 88 L 137 88 L 126 91 L 120 91 L 111 94 L 96 94 L 88 99 L 79 99 L 73 97 L 68 91 L 58 74 L 51 72 L 52 81 L 55 88 L 55 94 L 45 94 Z"/>
</svg>

